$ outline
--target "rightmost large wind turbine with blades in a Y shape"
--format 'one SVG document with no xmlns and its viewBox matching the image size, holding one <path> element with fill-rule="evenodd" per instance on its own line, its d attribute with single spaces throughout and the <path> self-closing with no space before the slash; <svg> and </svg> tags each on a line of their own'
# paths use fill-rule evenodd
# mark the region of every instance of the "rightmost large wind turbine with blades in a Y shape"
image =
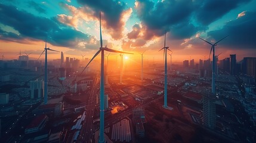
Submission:
<svg viewBox="0 0 256 143">
<path fill-rule="evenodd" d="M 227 35 L 227 36 L 229 36 L 229 35 Z M 199 37 L 199 39 L 201 39 L 202 41 L 205 41 L 206 43 L 209 43 L 209 45 L 212 45 L 211 51 L 210 51 L 210 54 L 209 54 L 209 56 L 211 56 L 211 52 L 212 52 L 212 94 L 215 94 L 215 48 L 214 47 L 217 46 L 218 42 L 222 41 L 226 37 L 220 39 L 219 41 L 217 41 L 213 44 L 208 42 L 208 41 L 205 41 L 205 40 L 203 40 L 202 38 Z"/>
</svg>

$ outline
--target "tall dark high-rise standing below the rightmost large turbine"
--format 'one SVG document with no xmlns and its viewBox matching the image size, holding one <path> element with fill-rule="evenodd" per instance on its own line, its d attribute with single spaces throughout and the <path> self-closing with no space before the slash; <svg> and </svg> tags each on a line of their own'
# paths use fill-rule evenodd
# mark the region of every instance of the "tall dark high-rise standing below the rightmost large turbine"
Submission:
<svg viewBox="0 0 256 143">
<path fill-rule="evenodd" d="M 215 97 L 210 91 L 203 92 L 203 125 L 210 129 L 216 125 Z"/>
</svg>

